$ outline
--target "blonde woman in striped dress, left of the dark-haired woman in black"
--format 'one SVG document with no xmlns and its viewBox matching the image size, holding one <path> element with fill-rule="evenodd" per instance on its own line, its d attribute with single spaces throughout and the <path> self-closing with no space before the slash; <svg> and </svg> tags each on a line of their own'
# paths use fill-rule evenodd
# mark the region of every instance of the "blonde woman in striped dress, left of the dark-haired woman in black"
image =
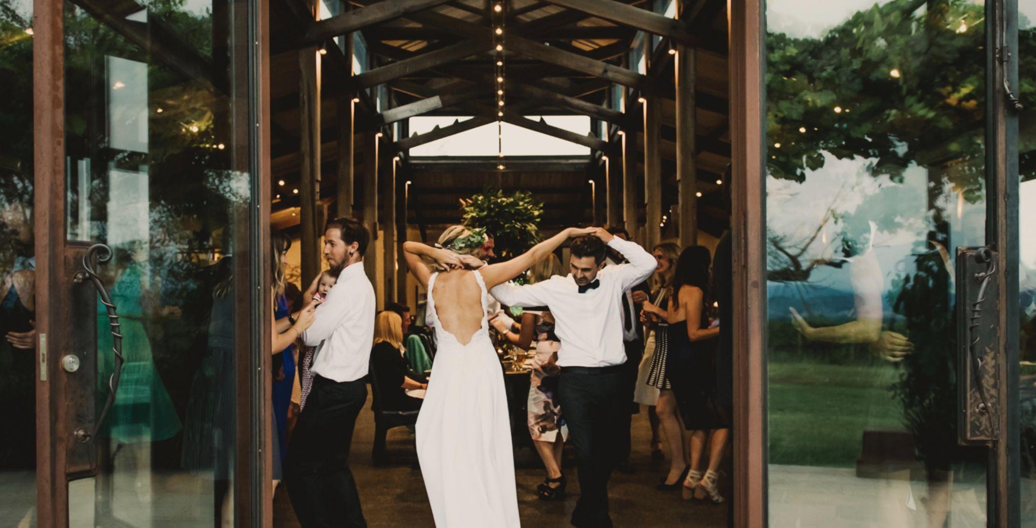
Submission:
<svg viewBox="0 0 1036 528">
<path fill-rule="evenodd" d="M 658 244 L 652 250 L 652 254 L 658 263 L 655 268 L 655 275 L 652 277 L 653 287 L 649 295 L 649 301 L 643 303 L 640 309 L 640 323 L 648 329 L 648 338 L 644 339 L 644 356 L 640 360 L 633 400 L 637 404 L 648 406 L 648 421 L 651 424 L 652 458 L 661 461 L 665 455 L 661 449 L 662 442 L 659 438 L 661 421 L 656 407 L 661 389 L 649 384 L 648 379 L 652 371 L 652 365 L 655 364 L 655 352 L 658 350 L 658 342 L 667 338 L 664 334 L 668 331 L 669 324 L 662 312 L 668 306 L 669 286 L 672 282 L 672 273 L 675 270 L 677 258 L 680 257 L 680 246 L 671 242 Z M 662 314 L 660 315 L 660 313 Z M 668 381 L 665 380 L 664 376 L 656 378 L 656 383 L 659 381 L 662 383 L 662 388 L 668 388 Z M 671 409 L 670 406 L 670 411 Z M 683 452 L 683 446 L 681 446 L 681 452 Z"/>
</svg>

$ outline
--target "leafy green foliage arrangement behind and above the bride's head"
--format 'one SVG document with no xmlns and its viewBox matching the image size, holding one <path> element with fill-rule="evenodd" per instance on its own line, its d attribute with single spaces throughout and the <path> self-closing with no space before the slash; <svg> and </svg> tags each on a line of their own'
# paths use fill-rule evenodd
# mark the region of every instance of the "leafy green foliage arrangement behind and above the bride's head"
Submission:
<svg viewBox="0 0 1036 528">
<path fill-rule="evenodd" d="M 484 229 L 495 242 L 497 257 L 511 258 L 540 242 L 543 202 L 527 191 L 514 194 L 486 191 L 465 200 L 464 225 Z"/>
</svg>

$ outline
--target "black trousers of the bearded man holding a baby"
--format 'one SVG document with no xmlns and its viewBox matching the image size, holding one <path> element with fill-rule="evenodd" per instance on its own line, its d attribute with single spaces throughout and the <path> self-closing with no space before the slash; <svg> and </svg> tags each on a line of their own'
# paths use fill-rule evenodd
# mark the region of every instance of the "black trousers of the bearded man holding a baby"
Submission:
<svg viewBox="0 0 1036 528">
<path fill-rule="evenodd" d="M 366 402 L 363 380 L 313 379 L 284 463 L 284 483 L 304 528 L 367 526 L 349 471 L 352 429 Z"/>
</svg>

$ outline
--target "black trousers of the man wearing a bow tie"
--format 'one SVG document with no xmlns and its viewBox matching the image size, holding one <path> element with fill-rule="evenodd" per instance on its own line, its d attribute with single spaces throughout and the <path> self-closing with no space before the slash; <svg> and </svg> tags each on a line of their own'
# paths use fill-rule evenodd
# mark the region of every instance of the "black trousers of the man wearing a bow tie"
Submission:
<svg viewBox="0 0 1036 528">
<path fill-rule="evenodd" d="M 576 451 L 579 501 L 572 512 L 577 527 L 609 528 L 608 478 L 623 434 L 620 406 L 629 407 L 624 390 L 625 367 L 563 367 L 558 399 L 569 424 L 569 443 Z"/>
</svg>

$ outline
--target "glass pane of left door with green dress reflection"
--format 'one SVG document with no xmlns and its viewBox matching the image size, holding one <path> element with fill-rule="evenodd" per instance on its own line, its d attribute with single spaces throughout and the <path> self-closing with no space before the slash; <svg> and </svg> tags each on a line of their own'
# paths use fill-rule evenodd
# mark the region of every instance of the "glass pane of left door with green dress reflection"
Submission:
<svg viewBox="0 0 1036 528">
<path fill-rule="evenodd" d="M 94 441 L 98 474 L 69 485 L 74 526 L 232 522 L 247 5 L 65 3 L 68 238 L 113 250 L 99 270 L 125 359 Z M 91 325 L 99 414 L 118 365 L 99 300 Z"/>
</svg>

